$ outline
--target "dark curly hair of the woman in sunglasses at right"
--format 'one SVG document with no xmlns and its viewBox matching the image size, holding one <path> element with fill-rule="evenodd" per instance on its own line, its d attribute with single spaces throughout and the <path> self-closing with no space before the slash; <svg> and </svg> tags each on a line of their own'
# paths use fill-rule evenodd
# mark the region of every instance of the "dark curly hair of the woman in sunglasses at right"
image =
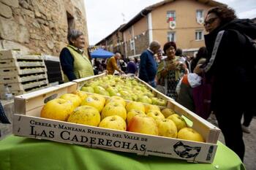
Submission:
<svg viewBox="0 0 256 170">
<path fill-rule="evenodd" d="M 236 12 L 234 9 L 227 7 L 227 5 L 221 5 L 218 7 L 213 7 L 208 10 L 207 15 L 214 13 L 221 20 L 221 24 L 230 22 L 233 19 L 236 19 Z"/>
</svg>

